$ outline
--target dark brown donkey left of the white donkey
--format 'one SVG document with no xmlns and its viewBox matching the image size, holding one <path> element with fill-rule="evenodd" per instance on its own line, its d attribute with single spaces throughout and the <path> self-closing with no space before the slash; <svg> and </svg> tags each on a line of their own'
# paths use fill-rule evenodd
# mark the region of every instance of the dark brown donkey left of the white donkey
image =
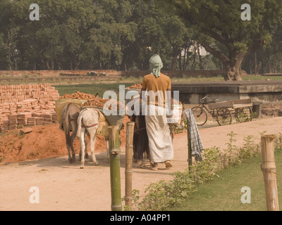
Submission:
<svg viewBox="0 0 282 225">
<path fill-rule="evenodd" d="M 70 163 L 75 162 L 75 150 L 73 148 L 73 141 L 75 140 L 78 130 L 79 113 L 80 113 L 80 107 L 75 103 L 68 103 L 61 112 L 60 128 L 63 129 L 66 135 L 66 148 L 68 149 L 68 161 Z M 86 137 L 85 137 L 85 146 L 87 146 Z M 73 155 L 72 158 L 71 158 L 71 152 Z M 87 150 L 85 150 L 85 158 L 88 158 Z"/>
</svg>

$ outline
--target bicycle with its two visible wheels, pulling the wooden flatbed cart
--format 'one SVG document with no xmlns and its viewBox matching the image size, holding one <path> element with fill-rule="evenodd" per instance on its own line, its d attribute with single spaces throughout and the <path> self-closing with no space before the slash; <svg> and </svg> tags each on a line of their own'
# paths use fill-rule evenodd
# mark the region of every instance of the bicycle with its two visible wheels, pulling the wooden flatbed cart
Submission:
<svg viewBox="0 0 282 225">
<path fill-rule="evenodd" d="M 193 107 L 192 113 L 195 117 L 197 126 L 202 126 L 207 122 L 207 113 L 212 115 L 212 117 L 216 120 L 216 122 L 221 125 L 231 124 L 232 122 L 232 115 L 231 111 L 228 110 L 226 107 L 221 108 L 214 108 L 212 110 L 209 110 L 205 104 L 209 103 L 216 103 L 216 101 L 219 101 L 219 98 L 215 98 L 213 101 L 210 101 L 208 103 L 204 103 L 205 99 L 209 98 L 209 96 L 204 96 L 204 98 L 200 99 L 200 105 Z"/>
</svg>

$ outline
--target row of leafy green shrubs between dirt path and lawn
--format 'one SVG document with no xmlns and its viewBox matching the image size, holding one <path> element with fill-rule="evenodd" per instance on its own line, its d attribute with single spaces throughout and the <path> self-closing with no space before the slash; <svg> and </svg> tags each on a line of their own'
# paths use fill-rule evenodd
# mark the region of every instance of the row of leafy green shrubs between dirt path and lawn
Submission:
<svg viewBox="0 0 282 225">
<path fill-rule="evenodd" d="M 238 148 L 234 144 L 236 135 L 233 131 L 228 134 L 230 138 L 226 143 L 226 149 L 220 150 L 216 147 L 204 149 L 202 151 L 204 160 L 195 162 L 190 170 L 176 172 L 173 175 L 173 180 L 149 184 L 142 201 L 135 202 L 139 205 L 139 210 L 168 210 L 179 205 L 191 193 L 197 191 L 197 186 L 206 184 L 218 176 L 216 172 L 231 165 L 238 165 L 259 152 L 254 136 L 245 137 L 243 147 Z M 136 197 L 135 199 L 139 200 Z"/>
</svg>

